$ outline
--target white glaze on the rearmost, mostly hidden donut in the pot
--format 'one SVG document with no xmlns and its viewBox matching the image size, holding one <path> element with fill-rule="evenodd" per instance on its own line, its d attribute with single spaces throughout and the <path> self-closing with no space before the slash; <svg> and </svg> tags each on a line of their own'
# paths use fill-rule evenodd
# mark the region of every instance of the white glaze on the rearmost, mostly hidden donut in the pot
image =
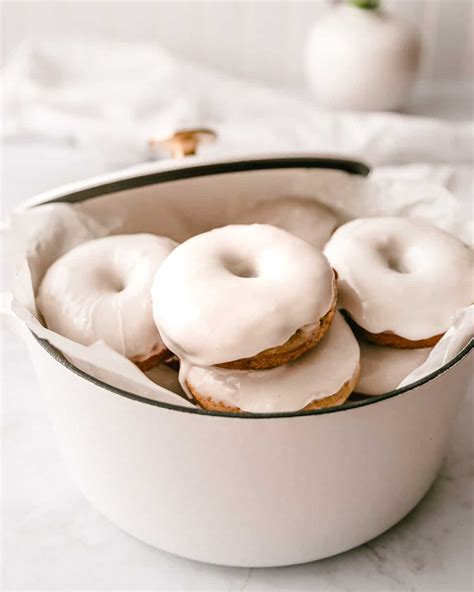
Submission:
<svg viewBox="0 0 474 592">
<path fill-rule="evenodd" d="M 337 226 L 326 206 L 308 197 L 277 197 L 249 207 L 235 217 L 236 224 L 271 224 L 322 249 Z"/>
</svg>

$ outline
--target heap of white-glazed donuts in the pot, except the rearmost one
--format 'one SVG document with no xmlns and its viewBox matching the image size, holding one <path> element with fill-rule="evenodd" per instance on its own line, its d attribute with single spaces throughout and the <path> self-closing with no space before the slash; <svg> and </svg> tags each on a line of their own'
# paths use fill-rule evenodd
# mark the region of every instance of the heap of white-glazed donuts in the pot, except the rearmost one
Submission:
<svg viewBox="0 0 474 592">
<path fill-rule="evenodd" d="M 396 388 L 426 359 L 472 303 L 473 260 L 453 236 L 405 218 L 348 222 L 322 252 L 326 238 L 267 224 L 180 245 L 100 238 L 53 263 L 37 305 L 49 329 L 103 341 L 143 370 L 177 356 L 183 389 L 208 410 L 341 405 L 354 389 Z"/>
</svg>

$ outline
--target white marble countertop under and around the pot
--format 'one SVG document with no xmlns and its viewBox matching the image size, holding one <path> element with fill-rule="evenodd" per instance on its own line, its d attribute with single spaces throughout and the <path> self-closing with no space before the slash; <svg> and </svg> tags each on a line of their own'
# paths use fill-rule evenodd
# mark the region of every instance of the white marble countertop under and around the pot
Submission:
<svg viewBox="0 0 474 592">
<path fill-rule="evenodd" d="M 31 141 L 4 147 L 3 171 L 4 213 L 39 191 L 103 172 L 92 156 Z M 98 514 L 67 471 L 25 346 L 3 331 L 1 360 L 4 590 L 451 592 L 473 587 L 472 397 L 462 405 L 434 486 L 390 531 L 301 566 L 226 568 L 160 552 Z"/>
</svg>

